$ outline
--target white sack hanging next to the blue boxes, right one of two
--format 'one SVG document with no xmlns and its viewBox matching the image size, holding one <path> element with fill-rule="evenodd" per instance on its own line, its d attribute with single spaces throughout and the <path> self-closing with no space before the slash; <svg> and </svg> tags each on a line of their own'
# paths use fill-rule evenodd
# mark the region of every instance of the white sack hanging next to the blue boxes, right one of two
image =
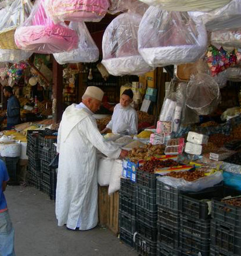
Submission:
<svg viewBox="0 0 241 256">
<path fill-rule="evenodd" d="M 120 189 L 120 177 L 122 174 L 122 160 L 115 160 L 109 182 L 108 194 L 111 195 Z"/>
</svg>

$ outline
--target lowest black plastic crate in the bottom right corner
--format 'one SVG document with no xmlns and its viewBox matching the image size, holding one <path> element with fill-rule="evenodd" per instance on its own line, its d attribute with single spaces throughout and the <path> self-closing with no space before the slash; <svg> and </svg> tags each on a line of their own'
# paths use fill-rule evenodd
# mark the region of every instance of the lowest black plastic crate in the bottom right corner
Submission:
<svg viewBox="0 0 241 256">
<path fill-rule="evenodd" d="M 229 223 L 211 221 L 212 245 L 230 254 L 240 255 L 241 253 L 241 227 Z"/>
</svg>

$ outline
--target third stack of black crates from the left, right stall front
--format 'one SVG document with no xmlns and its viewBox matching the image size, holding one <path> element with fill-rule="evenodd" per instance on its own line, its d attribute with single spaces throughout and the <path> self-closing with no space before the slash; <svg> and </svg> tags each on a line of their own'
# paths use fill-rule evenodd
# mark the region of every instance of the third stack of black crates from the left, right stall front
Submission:
<svg viewBox="0 0 241 256">
<path fill-rule="evenodd" d="M 179 256 L 179 190 L 157 181 L 156 202 L 158 204 L 157 255 Z"/>
</svg>

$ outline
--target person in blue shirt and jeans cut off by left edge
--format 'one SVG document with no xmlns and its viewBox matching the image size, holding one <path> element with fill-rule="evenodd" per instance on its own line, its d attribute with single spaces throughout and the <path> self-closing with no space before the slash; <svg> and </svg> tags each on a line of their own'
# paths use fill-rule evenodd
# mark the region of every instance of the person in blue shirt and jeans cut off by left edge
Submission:
<svg viewBox="0 0 241 256">
<path fill-rule="evenodd" d="M 9 180 L 5 162 L 0 159 L 0 255 L 15 256 L 14 227 L 9 216 L 4 191 Z"/>
</svg>

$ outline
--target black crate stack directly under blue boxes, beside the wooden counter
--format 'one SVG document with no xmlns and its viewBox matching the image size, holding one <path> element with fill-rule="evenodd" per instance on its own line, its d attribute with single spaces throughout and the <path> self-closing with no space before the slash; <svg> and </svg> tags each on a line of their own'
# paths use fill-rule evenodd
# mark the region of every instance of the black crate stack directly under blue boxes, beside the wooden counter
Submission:
<svg viewBox="0 0 241 256">
<path fill-rule="evenodd" d="M 136 183 L 130 179 L 120 179 L 119 191 L 119 226 L 120 240 L 134 246 L 133 237 L 136 231 Z"/>
</svg>

